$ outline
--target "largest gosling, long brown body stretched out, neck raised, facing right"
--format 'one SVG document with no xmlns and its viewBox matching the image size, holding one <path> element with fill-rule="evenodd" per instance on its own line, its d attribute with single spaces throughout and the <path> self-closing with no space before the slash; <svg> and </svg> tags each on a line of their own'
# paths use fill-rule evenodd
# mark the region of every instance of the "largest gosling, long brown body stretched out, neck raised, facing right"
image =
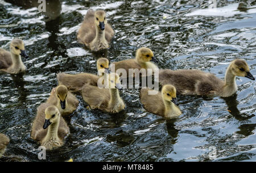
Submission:
<svg viewBox="0 0 256 173">
<path fill-rule="evenodd" d="M 217 95 L 229 97 L 236 93 L 236 76 L 255 80 L 245 60 L 237 59 L 230 63 L 225 81 L 212 73 L 200 70 L 159 70 L 160 85 L 171 84 L 182 95 Z"/>
</svg>

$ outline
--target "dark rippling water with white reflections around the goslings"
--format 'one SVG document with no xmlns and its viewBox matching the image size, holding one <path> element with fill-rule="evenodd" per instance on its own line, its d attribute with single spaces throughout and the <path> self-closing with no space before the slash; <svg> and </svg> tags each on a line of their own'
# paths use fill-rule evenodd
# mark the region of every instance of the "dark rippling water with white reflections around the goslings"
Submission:
<svg viewBox="0 0 256 173">
<path fill-rule="evenodd" d="M 45 22 L 35 7 L 0 0 L 0 46 L 9 49 L 20 37 L 30 55 L 23 78 L 0 77 L 0 132 L 11 139 L 7 161 L 39 161 L 31 123 L 57 85 L 56 73 L 96 73 L 102 54 L 119 61 L 149 47 L 159 68 L 200 69 L 220 78 L 230 61 L 244 58 L 256 74 L 255 1 L 246 2 L 252 8 L 246 12 L 231 0 L 219 1 L 218 9 L 188 0 L 61 3 L 59 18 Z M 108 13 L 115 30 L 108 52 L 93 54 L 76 42 L 89 8 Z M 77 96 L 79 108 L 67 119 L 71 134 L 63 147 L 47 151 L 47 161 L 256 161 L 255 82 L 238 77 L 237 85 L 237 95 L 226 99 L 178 96 L 183 114 L 174 120 L 146 112 L 138 90 L 121 93 L 126 109 L 118 115 L 88 111 Z"/>
</svg>

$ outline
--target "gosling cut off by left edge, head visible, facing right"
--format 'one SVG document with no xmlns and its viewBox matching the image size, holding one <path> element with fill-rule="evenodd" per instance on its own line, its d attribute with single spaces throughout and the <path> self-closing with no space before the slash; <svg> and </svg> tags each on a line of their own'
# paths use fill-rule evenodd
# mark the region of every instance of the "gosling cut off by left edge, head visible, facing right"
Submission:
<svg viewBox="0 0 256 173">
<path fill-rule="evenodd" d="M 0 48 L 0 71 L 10 74 L 19 74 L 26 71 L 22 57 L 28 58 L 24 43 L 20 39 L 14 39 L 10 44 L 10 51 Z"/>
</svg>

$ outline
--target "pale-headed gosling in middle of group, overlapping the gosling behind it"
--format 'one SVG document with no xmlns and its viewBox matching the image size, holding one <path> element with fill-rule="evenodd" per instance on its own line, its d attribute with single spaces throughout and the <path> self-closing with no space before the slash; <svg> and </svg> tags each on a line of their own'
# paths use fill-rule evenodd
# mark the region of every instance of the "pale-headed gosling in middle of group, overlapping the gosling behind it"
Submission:
<svg viewBox="0 0 256 173">
<path fill-rule="evenodd" d="M 85 84 L 82 87 L 82 98 L 89 104 L 90 109 L 100 109 L 105 112 L 118 113 L 125 108 L 125 103 L 119 96 L 122 86 L 119 83 L 119 75 L 110 73 L 108 75 L 108 83 L 104 85 L 108 88 L 99 88 Z M 103 77 L 102 77 L 103 78 Z"/>
</svg>

